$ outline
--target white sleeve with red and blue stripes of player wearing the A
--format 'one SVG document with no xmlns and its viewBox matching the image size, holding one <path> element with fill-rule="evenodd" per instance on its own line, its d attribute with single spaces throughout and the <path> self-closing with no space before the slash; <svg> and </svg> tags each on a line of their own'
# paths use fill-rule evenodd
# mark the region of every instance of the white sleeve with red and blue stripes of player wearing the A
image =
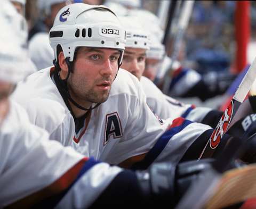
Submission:
<svg viewBox="0 0 256 209">
<path fill-rule="evenodd" d="M 128 158 L 146 154 L 151 156 L 148 165 L 153 161 L 166 160 L 177 163 L 188 147 L 204 131 L 211 129 L 183 118 L 178 123 L 170 119 L 159 119 L 148 107 L 140 84 L 137 90 L 138 96 L 130 104 L 129 123 L 124 130 L 124 137 L 107 158 L 107 162 L 118 164 Z"/>
</svg>

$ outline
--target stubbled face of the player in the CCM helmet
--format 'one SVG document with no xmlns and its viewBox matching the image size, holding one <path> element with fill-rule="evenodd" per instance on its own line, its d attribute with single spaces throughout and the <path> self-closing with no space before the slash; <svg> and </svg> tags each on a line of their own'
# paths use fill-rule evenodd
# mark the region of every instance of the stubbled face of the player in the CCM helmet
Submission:
<svg viewBox="0 0 256 209">
<path fill-rule="evenodd" d="M 118 70 L 120 52 L 115 49 L 80 47 L 68 87 L 75 101 L 88 106 L 105 102 Z"/>
</svg>

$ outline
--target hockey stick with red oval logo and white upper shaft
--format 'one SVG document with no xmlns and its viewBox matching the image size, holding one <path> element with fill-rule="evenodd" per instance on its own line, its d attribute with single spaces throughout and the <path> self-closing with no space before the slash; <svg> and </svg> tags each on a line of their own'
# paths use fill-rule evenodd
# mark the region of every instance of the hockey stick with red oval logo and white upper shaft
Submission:
<svg viewBox="0 0 256 209">
<path fill-rule="evenodd" d="M 249 70 L 245 74 L 242 82 L 238 86 L 235 95 L 231 99 L 228 107 L 221 116 L 220 121 L 212 132 L 210 139 L 207 141 L 202 153 L 198 157 L 200 160 L 202 157 L 211 157 L 215 152 L 215 149 L 219 145 L 222 136 L 226 133 L 230 121 L 234 118 L 239 105 L 244 101 L 244 98 L 249 93 L 252 83 L 256 78 L 256 57 L 254 58 Z"/>
</svg>

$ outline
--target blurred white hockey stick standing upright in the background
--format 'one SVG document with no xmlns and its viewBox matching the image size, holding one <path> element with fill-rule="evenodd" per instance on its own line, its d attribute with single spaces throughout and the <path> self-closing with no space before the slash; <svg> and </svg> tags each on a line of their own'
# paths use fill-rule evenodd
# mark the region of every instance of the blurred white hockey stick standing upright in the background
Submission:
<svg viewBox="0 0 256 209">
<path fill-rule="evenodd" d="M 185 1 L 183 3 L 181 15 L 180 15 L 180 20 L 178 22 L 177 26 L 177 34 L 175 36 L 174 42 L 173 42 L 173 51 L 172 51 L 172 56 L 171 56 L 171 64 L 170 64 L 170 69 L 167 70 L 165 73 L 165 79 L 164 79 L 164 84 L 163 84 L 163 93 L 168 94 L 170 83 L 171 83 L 171 77 L 170 77 L 170 72 L 172 70 L 173 63 L 178 57 L 179 51 L 180 51 L 180 46 L 181 46 L 181 41 L 184 35 L 184 32 L 188 26 L 188 21 L 190 18 L 190 14 L 193 10 L 194 6 L 194 1 Z"/>
</svg>

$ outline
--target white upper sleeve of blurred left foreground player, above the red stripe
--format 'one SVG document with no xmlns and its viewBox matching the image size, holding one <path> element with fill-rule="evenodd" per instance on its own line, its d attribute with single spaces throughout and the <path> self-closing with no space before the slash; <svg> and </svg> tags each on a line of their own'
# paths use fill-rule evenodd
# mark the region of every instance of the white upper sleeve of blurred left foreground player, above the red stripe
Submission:
<svg viewBox="0 0 256 209">
<path fill-rule="evenodd" d="M 7 205 L 50 185 L 83 156 L 50 141 L 49 134 L 28 120 L 17 104 L 0 132 L 0 203 Z"/>
</svg>

